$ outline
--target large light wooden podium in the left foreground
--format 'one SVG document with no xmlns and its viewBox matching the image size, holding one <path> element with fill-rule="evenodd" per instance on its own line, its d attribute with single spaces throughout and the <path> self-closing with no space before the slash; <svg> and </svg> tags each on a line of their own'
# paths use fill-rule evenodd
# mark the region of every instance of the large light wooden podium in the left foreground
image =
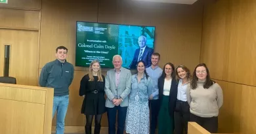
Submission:
<svg viewBox="0 0 256 134">
<path fill-rule="evenodd" d="M 1 134 L 51 134 L 53 88 L 0 83 Z"/>
</svg>

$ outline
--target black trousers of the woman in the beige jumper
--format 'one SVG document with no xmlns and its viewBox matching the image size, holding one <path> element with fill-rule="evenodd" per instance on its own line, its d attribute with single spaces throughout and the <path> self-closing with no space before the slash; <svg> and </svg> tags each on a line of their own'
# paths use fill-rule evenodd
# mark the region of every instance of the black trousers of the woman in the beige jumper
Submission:
<svg viewBox="0 0 256 134">
<path fill-rule="evenodd" d="M 217 133 L 218 131 L 218 116 L 203 118 L 194 114 L 190 114 L 190 122 L 196 122 L 210 133 Z"/>
</svg>

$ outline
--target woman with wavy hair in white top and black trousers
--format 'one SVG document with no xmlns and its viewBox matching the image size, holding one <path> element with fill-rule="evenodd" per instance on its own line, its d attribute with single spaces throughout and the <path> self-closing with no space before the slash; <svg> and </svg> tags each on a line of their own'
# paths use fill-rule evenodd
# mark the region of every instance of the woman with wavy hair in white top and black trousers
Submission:
<svg viewBox="0 0 256 134">
<path fill-rule="evenodd" d="M 175 124 L 175 134 L 185 134 L 188 133 L 188 121 L 190 117 L 189 105 L 186 99 L 186 88 L 189 85 L 191 74 L 190 70 L 184 66 L 179 65 L 175 69 L 176 79 L 178 84 L 177 101 L 174 111 L 174 124 Z"/>
</svg>

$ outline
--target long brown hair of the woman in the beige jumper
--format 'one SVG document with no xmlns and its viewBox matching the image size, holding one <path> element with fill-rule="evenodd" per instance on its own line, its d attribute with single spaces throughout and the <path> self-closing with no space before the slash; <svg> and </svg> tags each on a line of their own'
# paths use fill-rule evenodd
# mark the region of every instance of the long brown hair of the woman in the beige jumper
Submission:
<svg viewBox="0 0 256 134">
<path fill-rule="evenodd" d="M 192 81 L 190 82 L 190 86 L 191 88 L 194 90 L 198 87 L 198 77 L 196 76 L 196 69 L 198 67 L 205 67 L 206 72 L 207 72 L 207 76 L 206 76 L 206 80 L 205 83 L 203 84 L 203 88 L 208 89 L 211 85 L 213 85 L 214 81 L 211 80 L 210 77 L 210 73 L 209 73 L 209 69 L 207 68 L 207 66 L 205 65 L 205 63 L 200 63 L 196 66 L 196 68 L 194 69 L 193 75 L 192 75 Z"/>
</svg>

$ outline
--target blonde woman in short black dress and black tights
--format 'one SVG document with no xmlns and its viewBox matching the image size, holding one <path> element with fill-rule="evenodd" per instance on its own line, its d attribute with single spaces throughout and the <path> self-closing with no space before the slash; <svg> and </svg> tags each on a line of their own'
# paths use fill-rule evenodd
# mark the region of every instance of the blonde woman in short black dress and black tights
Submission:
<svg viewBox="0 0 256 134">
<path fill-rule="evenodd" d="M 91 124 L 95 116 L 95 134 L 100 133 L 100 120 L 106 112 L 104 97 L 105 78 L 101 75 L 98 60 L 91 62 L 89 73 L 81 79 L 79 95 L 83 96 L 81 113 L 86 116 L 85 134 L 91 134 Z"/>
</svg>

